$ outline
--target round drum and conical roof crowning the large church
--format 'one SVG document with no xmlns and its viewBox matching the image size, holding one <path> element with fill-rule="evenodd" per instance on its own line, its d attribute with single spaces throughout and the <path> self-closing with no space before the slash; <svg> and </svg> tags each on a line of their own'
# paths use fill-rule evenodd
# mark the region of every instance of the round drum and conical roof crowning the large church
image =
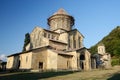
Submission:
<svg viewBox="0 0 120 80">
<path fill-rule="evenodd" d="M 70 16 L 63 8 L 60 8 L 48 18 L 48 25 L 50 26 L 51 31 L 70 31 L 74 25 L 74 18 Z"/>
</svg>

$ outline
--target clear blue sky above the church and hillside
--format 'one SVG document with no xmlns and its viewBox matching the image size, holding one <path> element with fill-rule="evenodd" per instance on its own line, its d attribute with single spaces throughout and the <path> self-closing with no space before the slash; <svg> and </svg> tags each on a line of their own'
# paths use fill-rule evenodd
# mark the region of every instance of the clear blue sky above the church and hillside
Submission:
<svg viewBox="0 0 120 80">
<path fill-rule="evenodd" d="M 63 8 L 90 48 L 120 26 L 120 0 L 0 0 L 0 56 L 21 52 L 25 34 Z"/>
</svg>

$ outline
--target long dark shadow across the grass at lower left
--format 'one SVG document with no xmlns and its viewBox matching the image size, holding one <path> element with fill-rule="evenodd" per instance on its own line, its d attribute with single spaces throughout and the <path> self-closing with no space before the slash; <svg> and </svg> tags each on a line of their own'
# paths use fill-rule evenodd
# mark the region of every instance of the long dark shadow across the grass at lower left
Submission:
<svg viewBox="0 0 120 80">
<path fill-rule="evenodd" d="M 8 75 L 0 76 L 0 80 L 38 80 L 44 78 L 50 78 L 55 76 L 62 76 L 72 74 L 73 71 L 61 71 L 61 72 L 16 72 L 6 73 Z"/>
</svg>

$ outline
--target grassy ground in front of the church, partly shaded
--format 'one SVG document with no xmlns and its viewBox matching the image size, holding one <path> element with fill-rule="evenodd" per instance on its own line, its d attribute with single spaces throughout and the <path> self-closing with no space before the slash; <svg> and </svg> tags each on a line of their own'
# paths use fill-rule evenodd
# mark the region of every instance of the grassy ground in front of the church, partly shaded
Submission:
<svg viewBox="0 0 120 80">
<path fill-rule="evenodd" d="M 0 73 L 0 80 L 120 80 L 120 66 L 109 70 Z"/>
</svg>

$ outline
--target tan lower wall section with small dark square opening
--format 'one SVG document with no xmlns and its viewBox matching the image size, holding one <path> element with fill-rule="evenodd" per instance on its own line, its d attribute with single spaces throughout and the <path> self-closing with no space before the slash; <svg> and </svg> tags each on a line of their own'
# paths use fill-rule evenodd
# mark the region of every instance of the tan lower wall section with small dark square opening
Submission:
<svg viewBox="0 0 120 80">
<path fill-rule="evenodd" d="M 37 49 L 33 51 L 32 69 L 47 69 L 47 50 L 46 48 Z"/>
</svg>

